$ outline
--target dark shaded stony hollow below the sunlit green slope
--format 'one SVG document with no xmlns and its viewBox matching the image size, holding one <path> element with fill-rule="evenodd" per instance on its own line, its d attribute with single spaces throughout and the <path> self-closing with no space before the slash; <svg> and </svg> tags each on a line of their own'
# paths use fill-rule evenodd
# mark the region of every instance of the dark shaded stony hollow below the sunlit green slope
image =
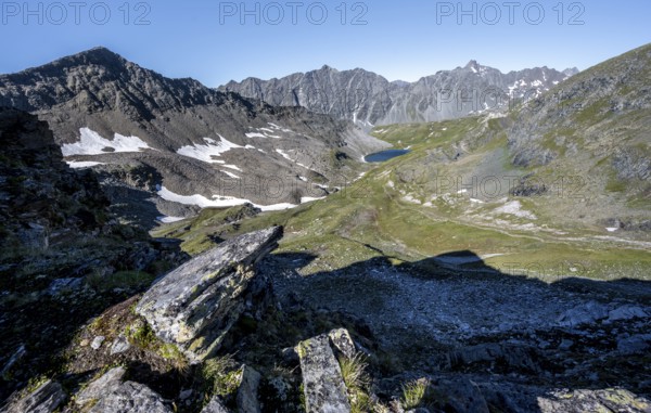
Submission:
<svg viewBox="0 0 651 413">
<path fill-rule="evenodd" d="M 369 353 L 383 398 L 423 377 L 430 400 L 421 405 L 434 411 L 472 411 L 477 396 L 492 411 L 541 412 L 549 410 L 539 398 L 553 405 L 574 390 L 651 393 L 648 282 L 565 278 L 548 284 L 500 272 L 470 250 L 396 266 L 373 258 L 302 276 L 315 259 L 278 254 L 261 268 L 273 276 L 284 311 L 330 318 L 317 320 L 323 331 L 310 334 L 353 321 L 348 327 Z M 560 396 L 560 389 L 570 390 Z"/>
</svg>

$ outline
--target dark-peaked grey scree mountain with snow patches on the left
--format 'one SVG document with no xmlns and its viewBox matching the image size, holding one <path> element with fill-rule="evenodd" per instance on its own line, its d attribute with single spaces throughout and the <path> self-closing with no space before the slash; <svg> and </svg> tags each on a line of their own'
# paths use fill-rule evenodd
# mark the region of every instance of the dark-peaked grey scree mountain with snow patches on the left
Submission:
<svg viewBox="0 0 651 413">
<path fill-rule="evenodd" d="M 167 79 L 103 48 L 0 76 L 0 105 L 49 121 L 74 166 L 158 177 L 140 177 L 139 189 L 159 215 L 187 214 L 178 202 L 220 205 L 214 196 L 260 206 L 320 197 L 327 192 L 317 184 L 357 176 L 346 159 L 385 145 L 328 116 Z M 176 206 L 155 196 L 161 191 Z"/>
</svg>

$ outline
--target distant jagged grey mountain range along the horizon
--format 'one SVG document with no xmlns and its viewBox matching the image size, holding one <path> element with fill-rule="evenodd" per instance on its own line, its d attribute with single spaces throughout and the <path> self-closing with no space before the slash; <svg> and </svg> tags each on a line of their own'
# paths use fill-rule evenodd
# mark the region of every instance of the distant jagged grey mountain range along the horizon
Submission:
<svg viewBox="0 0 651 413">
<path fill-rule="evenodd" d="M 373 126 L 438 121 L 503 111 L 539 96 L 578 73 L 536 67 L 502 74 L 475 61 L 409 83 L 390 82 L 361 68 L 339 72 L 323 66 L 281 79 L 247 78 L 218 90 L 258 99 L 275 106 L 303 106 L 312 112 Z"/>
</svg>

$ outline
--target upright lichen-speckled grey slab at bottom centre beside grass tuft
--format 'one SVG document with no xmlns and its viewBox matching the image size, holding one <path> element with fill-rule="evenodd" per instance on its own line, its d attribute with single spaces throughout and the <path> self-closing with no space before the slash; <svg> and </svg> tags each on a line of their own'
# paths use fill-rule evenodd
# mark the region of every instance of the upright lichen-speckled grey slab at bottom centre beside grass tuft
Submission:
<svg viewBox="0 0 651 413">
<path fill-rule="evenodd" d="M 298 344 L 307 413 L 350 412 L 342 371 L 330 347 L 328 335 Z"/>
</svg>

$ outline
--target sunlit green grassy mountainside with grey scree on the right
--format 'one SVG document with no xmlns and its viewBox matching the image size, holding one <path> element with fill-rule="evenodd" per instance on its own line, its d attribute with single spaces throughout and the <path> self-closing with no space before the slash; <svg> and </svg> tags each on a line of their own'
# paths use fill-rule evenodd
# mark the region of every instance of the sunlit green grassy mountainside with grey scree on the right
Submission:
<svg viewBox="0 0 651 413">
<path fill-rule="evenodd" d="M 283 250 L 320 257 L 309 271 L 472 250 L 546 280 L 647 279 L 650 52 L 587 69 L 508 115 L 378 127 L 411 153 L 315 205 L 242 227 L 286 222 Z M 190 244 L 210 231 L 177 230 Z"/>
</svg>

